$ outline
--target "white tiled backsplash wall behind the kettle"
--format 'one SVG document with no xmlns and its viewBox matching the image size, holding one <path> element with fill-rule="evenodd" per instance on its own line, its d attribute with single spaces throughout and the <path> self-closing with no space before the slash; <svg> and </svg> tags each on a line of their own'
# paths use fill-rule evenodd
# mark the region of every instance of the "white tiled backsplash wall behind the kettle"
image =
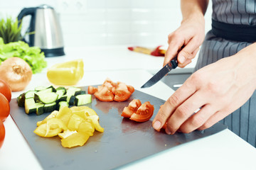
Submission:
<svg viewBox="0 0 256 170">
<path fill-rule="evenodd" d="M 166 45 L 168 34 L 182 18 L 178 0 L 0 0 L 0 16 L 16 17 L 22 8 L 41 4 L 53 6 L 58 13 L 66 47 Z M 25 28 L 29 18 L 23 21 Z"/>
</svg>

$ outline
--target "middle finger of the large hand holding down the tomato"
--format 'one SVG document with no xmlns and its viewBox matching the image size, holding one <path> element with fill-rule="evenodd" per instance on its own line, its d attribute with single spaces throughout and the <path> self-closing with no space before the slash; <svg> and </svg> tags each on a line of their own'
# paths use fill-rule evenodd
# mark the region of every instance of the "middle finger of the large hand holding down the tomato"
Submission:
<svg viewBox="0 0 256 170">
<path fill-rule="evenodd" d="M 166 129 L 168 128 L 170 134 L 174 134 L 198 108 L 206 105 L 206 103 L 204 95 L 197 91 L 176 108 L 167 122 Z"/>
</svg>

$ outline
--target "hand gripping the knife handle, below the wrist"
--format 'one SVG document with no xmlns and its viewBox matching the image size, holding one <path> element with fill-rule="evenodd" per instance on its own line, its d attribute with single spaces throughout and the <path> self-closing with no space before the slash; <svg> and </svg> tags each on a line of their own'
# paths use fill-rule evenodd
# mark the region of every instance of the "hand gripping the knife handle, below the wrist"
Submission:
<svg viewBox="0 0 256 170">
<path fill-rule="evenodd" d="M 181 22 L 181 26 L 168 35 L 169 47 L 166 50 L 164 65 L 178 55 L 178 67 L 185 67 L 196 57 L 205 37 L 203 15 L 193 15 Z"/>
</svg>

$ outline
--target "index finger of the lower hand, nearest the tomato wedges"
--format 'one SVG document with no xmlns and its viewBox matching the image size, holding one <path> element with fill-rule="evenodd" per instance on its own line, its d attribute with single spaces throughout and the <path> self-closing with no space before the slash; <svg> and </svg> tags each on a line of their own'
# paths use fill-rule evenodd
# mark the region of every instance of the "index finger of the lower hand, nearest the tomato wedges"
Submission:
<svg viewBox="0 0 256 170">
<path fill-rule="evenodd" d="M 164 103 L 163 106 L 159 109 L 156 117 L 154 118 L 152 125 L 156 130 L 160 130 L 162 126 L 166 123 L 168 118 L 175 109 L 183 103 L 189 96 L 191 96 L 196 91 L 196 86 L 192 86 L 189 81 L 185 83 L 175 91 L 171 97 Z"/>
</svg>

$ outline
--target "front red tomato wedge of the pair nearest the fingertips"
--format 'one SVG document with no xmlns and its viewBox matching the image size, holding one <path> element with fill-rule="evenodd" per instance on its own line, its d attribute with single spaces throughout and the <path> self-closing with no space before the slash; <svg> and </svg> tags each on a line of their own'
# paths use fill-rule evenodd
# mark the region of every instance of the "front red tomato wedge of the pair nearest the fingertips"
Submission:
<svg viewBox="0 0 256 170">
<path fill-rule="evenodd" d="M 149 101 L 146 101 L 142 104 L 137 110 L 136 113 L 133 113 L 131 115 L 131 120 L 137 121 L 137 122 L 145 122 L 149 120 L 154 113 L 154 106 L 149 103 Z"/>
</svg>

